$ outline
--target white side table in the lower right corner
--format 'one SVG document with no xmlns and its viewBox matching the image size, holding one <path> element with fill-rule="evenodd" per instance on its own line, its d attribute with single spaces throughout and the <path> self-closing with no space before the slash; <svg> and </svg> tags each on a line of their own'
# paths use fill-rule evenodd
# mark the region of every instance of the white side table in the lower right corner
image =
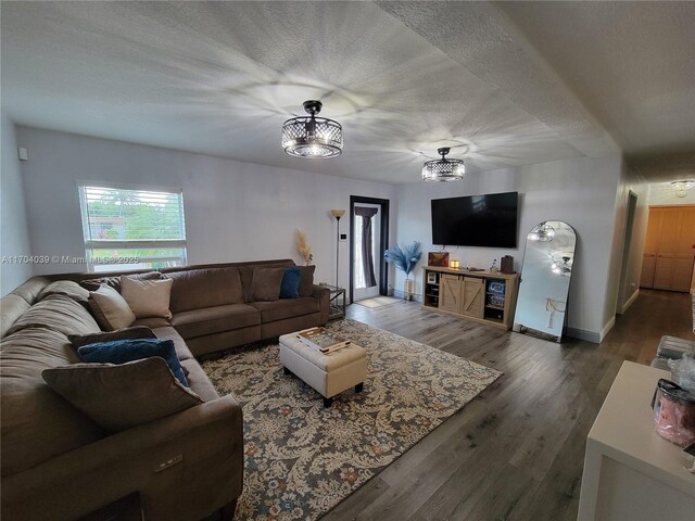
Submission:
<svg viewBox="0 0 695 521">
<path fill-rule="evenodd" d="M 695 474 L 655 430 L 659 378 L 670 372 L 622 364 L 586 439 L 579 521 L 695 520 Z"/>
</svg>

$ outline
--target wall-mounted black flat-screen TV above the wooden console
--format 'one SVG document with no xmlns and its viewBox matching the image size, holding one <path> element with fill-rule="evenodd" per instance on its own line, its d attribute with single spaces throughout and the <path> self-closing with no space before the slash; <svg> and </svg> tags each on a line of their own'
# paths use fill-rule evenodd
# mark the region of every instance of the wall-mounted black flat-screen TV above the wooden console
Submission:
<svg viewBox="0 0 695 521">
<path fill-rule="evenodd" d="M 432 244 L 517 247 L 518 192 L 432 200 Z"/>
</svg>

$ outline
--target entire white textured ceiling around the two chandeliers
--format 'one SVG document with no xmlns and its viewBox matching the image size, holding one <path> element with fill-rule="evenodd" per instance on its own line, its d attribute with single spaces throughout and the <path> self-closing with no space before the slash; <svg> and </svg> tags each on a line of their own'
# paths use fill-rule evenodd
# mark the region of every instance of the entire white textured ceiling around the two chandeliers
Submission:
<svg viewBox="0 0 695 521">
<path fill-rule="evenodd" d="M 442 145 L 469 171 L 620 148 L 695 176 L 695 3 L 0 9 L 2 110 L 23 125 L 387 182 Z M 339 158 L 280 149 L 307 99 L 343 125 Z"/>
</svg>

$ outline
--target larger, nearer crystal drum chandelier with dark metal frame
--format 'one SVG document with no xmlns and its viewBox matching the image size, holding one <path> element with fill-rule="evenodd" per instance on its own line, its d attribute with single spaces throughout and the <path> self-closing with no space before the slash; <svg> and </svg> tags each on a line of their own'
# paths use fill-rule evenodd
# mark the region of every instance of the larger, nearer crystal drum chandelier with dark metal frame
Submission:
<svg viewBox="0 0 695 521">
<path fill-rule="evenodd" d="M 324 104 L 304 102 L 308 116 L 293 117 L 282 125 L 282 148 L 294 157 L 337 157 L 343 151 L 343 128 L 338 122 L 316 117 Z"/>
</svg>

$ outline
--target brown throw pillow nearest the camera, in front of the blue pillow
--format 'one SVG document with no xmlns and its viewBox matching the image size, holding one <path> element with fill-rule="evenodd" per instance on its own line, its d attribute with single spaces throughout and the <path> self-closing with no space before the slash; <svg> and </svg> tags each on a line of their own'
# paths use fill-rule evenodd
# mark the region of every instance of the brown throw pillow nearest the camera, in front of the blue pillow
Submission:
<svg viewBox="0 0 695 521">
<path fill-rule="evenodd" d="M 202 404 L 159 357 L 46 369 L 46 382 L 104 429 L 118 432 Z"/>
</svg>

